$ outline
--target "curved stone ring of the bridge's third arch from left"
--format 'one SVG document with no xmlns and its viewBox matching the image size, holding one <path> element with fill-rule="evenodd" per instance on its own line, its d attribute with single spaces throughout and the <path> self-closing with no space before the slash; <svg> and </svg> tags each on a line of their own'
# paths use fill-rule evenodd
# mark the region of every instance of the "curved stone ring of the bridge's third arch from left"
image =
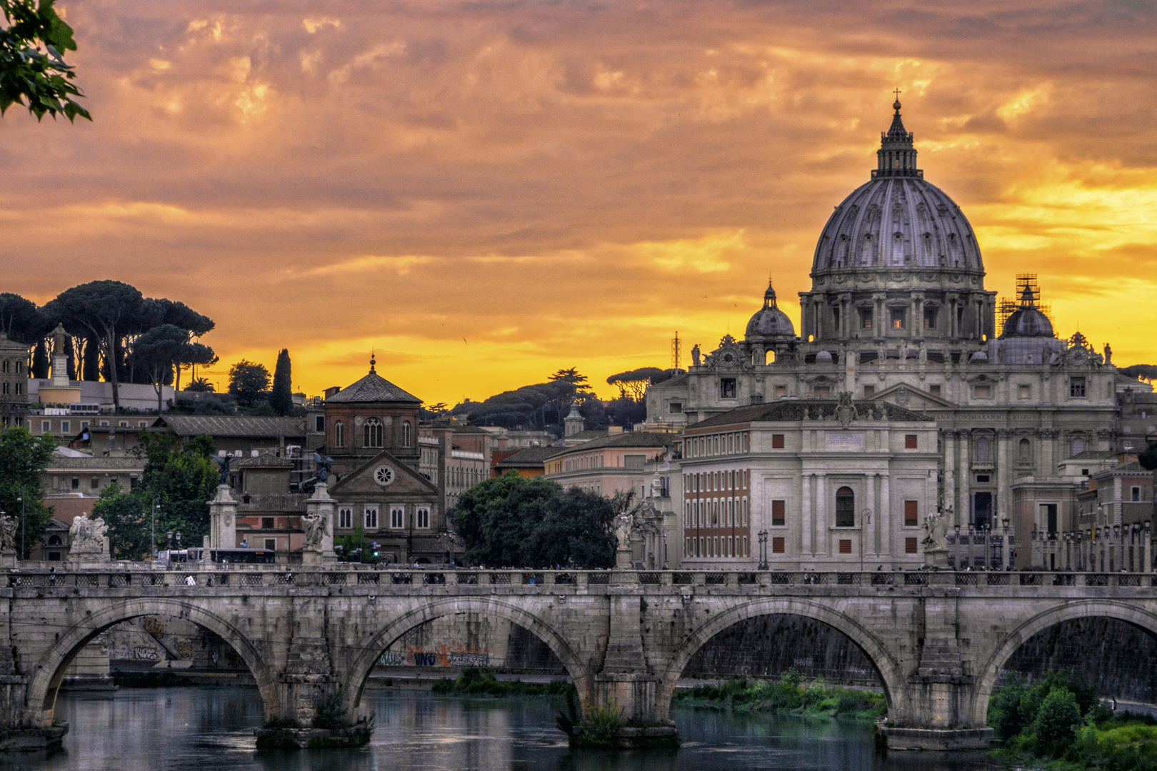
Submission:
<svg viewBox="0 0 1157 771">
<path fill-rule="evenodd" d="M 899 663 L 887 652 L 884 645 L 850 616 L 833 610 L 832 608 L 802 598 L 758 598 L 734 605 L 718 615 L 712 617 L 695 628 L 684 642 L 676 648 L 666 668 L 659 674 L 658 692 L 656 694 L 656 714 L 661 720 L 670 714 L 671 697 L 675 695 L 675 687 L 687 667 L 695 652 L 707 644 L 713 637 L 723 630 L 749 618 L 759 616 L 803 616 L 813 621 L 819 621 L 842 632 L 848 639 L 860 646 L 868 659 L 879 672 L 884 681 L 884 697 L 887 699 L 889 710 L 892 710 L 892 699 L 905 692 L 904 677 L 900 673 Z"/>
</svg>

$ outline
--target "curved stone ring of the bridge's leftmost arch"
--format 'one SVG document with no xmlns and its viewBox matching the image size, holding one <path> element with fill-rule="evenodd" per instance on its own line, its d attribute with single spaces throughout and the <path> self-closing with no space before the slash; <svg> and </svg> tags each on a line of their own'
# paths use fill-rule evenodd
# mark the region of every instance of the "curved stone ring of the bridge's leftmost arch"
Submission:
<svg viewBox="0 0 1157 771">
<path fill-rule="evenodd" d="M 275 709 L 277 675 L 249 637 L 221 616 L 184 599 L 138 598 L 113 602 L 62 632 L 40 657 L 31 672 L 28 687 L 28 717 L 40 726 L 51 726 L 57 691 L 65 670 L 84 645 L 110 627 L 140 616 L 176 616 L 204 627 L 224 639 L 245 661 L 261 692 L 266 714 Z"/>
</svg>

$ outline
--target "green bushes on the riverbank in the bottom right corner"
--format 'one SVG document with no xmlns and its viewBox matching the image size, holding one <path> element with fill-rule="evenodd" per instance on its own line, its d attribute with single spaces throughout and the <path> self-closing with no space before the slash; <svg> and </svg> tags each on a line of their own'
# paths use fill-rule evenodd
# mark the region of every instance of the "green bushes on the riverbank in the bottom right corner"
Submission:
<svg viewBox="0 0 1157 771">
<path fill-rule="evenodd" d="M 993 694 L 988 725 L 1004 741 L 1005 759 L 1084 771 L 1157 771 L 1157 720 L 1113 712 L 1071 669 L 1037 684 L 1019 674 Z"/>
</svg>

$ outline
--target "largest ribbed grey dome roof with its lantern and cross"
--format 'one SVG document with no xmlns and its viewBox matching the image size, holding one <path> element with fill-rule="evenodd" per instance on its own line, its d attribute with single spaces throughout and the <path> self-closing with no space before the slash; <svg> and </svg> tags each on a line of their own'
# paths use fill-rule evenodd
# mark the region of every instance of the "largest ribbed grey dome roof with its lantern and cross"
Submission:
<svg viewBox="0 0 1157 771">
<path fill-rule="evenodd" d="M 816 245 L 812 274 L 848 268 L 941 268 L 983 272 L 980 249 L 964 213 L 916 169 L 913 135 L 899 102 L 880 135 L 877 169 L 835 207 Z"/>
</svg>

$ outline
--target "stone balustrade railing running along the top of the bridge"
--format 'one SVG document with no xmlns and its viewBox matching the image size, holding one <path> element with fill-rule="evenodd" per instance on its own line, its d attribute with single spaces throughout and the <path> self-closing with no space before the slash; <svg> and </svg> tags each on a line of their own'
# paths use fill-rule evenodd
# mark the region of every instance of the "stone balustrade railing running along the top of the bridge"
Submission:
<svg viewBox="0 0 1157 771">
<path fill-rule="evenodd" d="M 955 586 L 960 590 L 1004 592 L 1047 592 L 1053 587 L 1071 590 L 1137 590 L 1149 594 L 1157 587 L 1157 573 L 1086 573 L 1071 571 L 825 571 L 825 570 L 513 570 L 370 566 L 370 565 L 178 565 L 164 570 L 150 565 L 113 565 L 84 570 L 9 569 L 8 586 L 14 591 L 79 590 L 93 592 L 140 592 L 230 587 L 248 591 L 263 587 L 277 593 L 285 587 L 362 587 L 369 593 L 397 587 L 401 593 L 419 592 L 605 592 L 610 586 L 705 587 L 706 591 L 758 592 L 815 591 L 820 593 L 920 591 L 926 586 Z M 418 590 L 417 587 L 425 587 Z M 983 587 L 983 588 L 981 588 Z M 332 590 L 338 591 L 338 590 Z M 88 593 L 88 592 L 84 592 Z"/>
</svg>

